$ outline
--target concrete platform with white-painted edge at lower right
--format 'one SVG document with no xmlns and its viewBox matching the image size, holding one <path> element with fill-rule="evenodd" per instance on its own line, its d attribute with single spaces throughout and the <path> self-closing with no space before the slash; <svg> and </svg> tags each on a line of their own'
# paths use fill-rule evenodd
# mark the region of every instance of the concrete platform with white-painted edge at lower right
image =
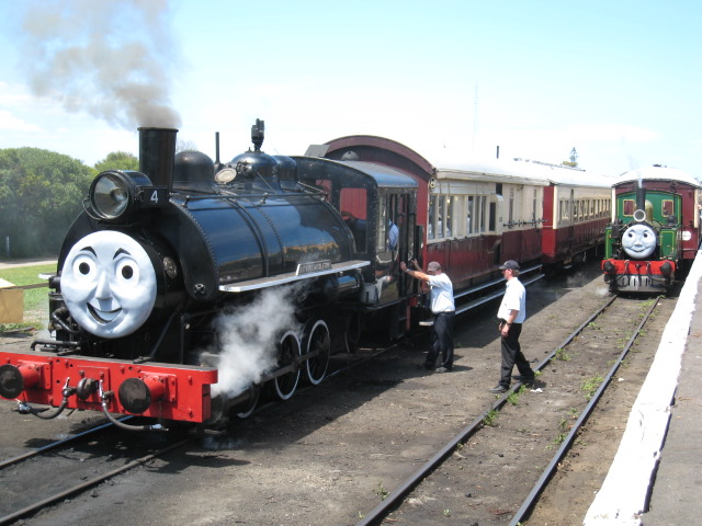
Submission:
<svg viewBox="0 0 702 526">
<path fill-rule="evenodd" d="M 702 251 L 586 526 L 702 524 Z"/>
</svg>

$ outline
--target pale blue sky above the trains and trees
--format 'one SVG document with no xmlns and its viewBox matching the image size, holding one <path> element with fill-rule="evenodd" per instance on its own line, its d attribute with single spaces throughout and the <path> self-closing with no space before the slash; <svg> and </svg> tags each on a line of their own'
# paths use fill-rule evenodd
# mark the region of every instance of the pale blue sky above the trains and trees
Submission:
<svg viewBox="0 0 702 526">
<path fill-rule="evenodd" d="M 261 118 L 270 153 L 371 134 L 429 161 L 444 148 L 495 157 L 499 146 L 502 158 L 562 162 L 575 147 L 582 168 L 607 174 L 661 163 L 702 178 L 697 1 L 0 0 L 0 148 L 89 164 L 136 155 L 136 128 L 162 122 L 139 122 L 151 117 L 126 112 L 103 87 L 151 76 L 159 104 L 179 116 L 179 138 L 214 158 L 219 132 L 223 160 L 250 146 Z M 120 54 L 139 42 L 143 69 L 129 73 Z M 58 60 L 73 48 L 88 54 Z"/>
</svg>

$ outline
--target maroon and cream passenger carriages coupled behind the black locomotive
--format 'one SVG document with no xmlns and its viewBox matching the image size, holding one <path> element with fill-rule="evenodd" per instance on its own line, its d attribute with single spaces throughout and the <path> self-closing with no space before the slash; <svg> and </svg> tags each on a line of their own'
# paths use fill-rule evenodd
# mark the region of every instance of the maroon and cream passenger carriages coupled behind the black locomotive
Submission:
<svg viewBox="0 0 702 526">
<path fill-rule="evenodd" d="M 529 284 L 603 242 L 611 201 L 611 180 L 603 175 L 521 160 L 471 161 L 451 150 L 430 162 L 375 136 L 313 145 L 306 155 L 392 167 L 417 181 L 416 210 L 388 195 L 381 211 L 399 225 L 400 240 L 414 240 L 409 255 L 424 265 L 441 263 L 453 281 L 457 312 L 502 294 L 498 266 L 506 260 L 520 262 Z M 408 230 L 411 225 L 416 232 Z"/>
</svg>

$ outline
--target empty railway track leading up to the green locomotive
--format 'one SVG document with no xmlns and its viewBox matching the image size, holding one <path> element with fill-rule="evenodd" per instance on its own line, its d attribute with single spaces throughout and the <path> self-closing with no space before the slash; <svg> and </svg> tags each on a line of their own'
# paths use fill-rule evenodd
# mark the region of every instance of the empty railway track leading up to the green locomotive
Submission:
<svg viewBox="0 0 702 526">
<path fill-rule="evenodd" d="M 584 397 L 587 399 L 587 403 L 577 410 L 573 409 L 573 405 L 569 405 L 568 420 L 562 420 L 558 433 L 552 443 L 553 446 L 557 447 L 547 447 L 555 449 L 555 451 L 546 462 L 545 468 L 540 471 L 539 477 L 536 477 L 537 473 L 536 470 L 534 470 L 535 481 L 531 490 L 529 492 L 524 492 L 523 489 L 510 490 L 513 491 L 513 496 L 521 495 L 519 498 L 523 499 L 519 507 L 514 507 L 514 498 L 509 501 L 500 498 L 497 501 L 502 504 L 487 508 L 487 516 L 480 516 L 480 514 L 475 510 L 476 506 L 472 503 L 466 504 L 465 507 L 468 510 L 467 512 L 461 511 L 456 506 L 452 506 L 444 507 L 441 511 L 441 514 L 444 517 L 465 514 L 463 518 L 468 519 L 465 524 L 484 524 L 482 522 L 484 519 L 499 521 L 500 517 L 509 518 L 509 523 L 505 522 L 505 524 L 509 524 L 510 526 L 529 524 L 525 521 L 529 519 L 530 513 L 536 505 L 540 495 L 547 487 L 550 480 L 552 480 L 554 473 L 558 470 L 564 457 L 571 449 L 581 433 L 582 426 L 587 423 L 588 418 L 591 415 L 607 388 L 610 386 L 612 378 L 618 370 L 620 370 L 624 361 L 627 359 L 636 339 L 645 328 L 646 321 L 655 312 L 656 307 L 658 307 L 661 301 L 661 299 L 654 299 L 647 302 L 641 302 L 627 301 L 616 297 L 609 298 L 596 312 L 593 312 L 535 367 L 535 370 L 539 371 L 537 375 L 540 375 L 544 369 L 553 367 L 554 362 L 564 361 L 565 363 L 566 361 L 569 361 L 573 355 L 581 353 L 587 346 L 591 345 L 593 335 L 595 340 L 609 340 L 614 342 L 615 346 L 621 347 L 621 352 L 615 358 L 608 358 L 605 361 L 607 368 L 609 368 L 609 370 L 603 367 L 605 362 L 592 362 L 591 371 L 593 376 L 591 378 L 596 381 L 592 381 L 587 386 L 588 392 L 587 396 Z M 642 311 L 643 307 L 645 307 L 644 311 Z M 612 319 L 625 320 L 625 323 L 623 324 L 622 321 L 620 321 L 614 324 L 611 322 Z M 623 334 L 627 334 L 627 338 L 622 346 L 622 339 L 624 338 Z M 543 378 L 543 375 L 537 378 Z M 540 384 L 543 385 L 543 381 L 537 380 L 535 384 L 535 387 L 539 390 Z M 476 444 L 483 442 L 480 435 L 485 434 L 486 431 L 494 433 L 497 427 L 495 422 L 502 420 L 502 416 L 497 414 L 497 412 L 506 407 L 513 408 L 510 405 L 510 400 L 512 403 L 518 403 L 514 402 L 516 398 L 524 396 L 526 392 L 528 391 L 521 382 L 513 384 L 507 393 L 500 396 L 473 422 L 448 441 L 446 444 L 417 471 L 415 471 L 405 481 L 397 484 L 392 492 L 384 495 L 384 500 L 375 508 L 365 514 L 363 518 L 356 523 L 356 526 L 377 525 L 382 524 L 384 521 L 393 522 L 393 519 L 401 521 L 403 524 L 422 524 L 427 518 L 426 511 L 417 513 L 416 503 L 417 501 L 423 500 L 427 502 L 432 499 L 429 496 L 432 490 L 426 490 L 422 488 L 422 484 L 424 484 L 438 469 L 443 470 L 446 462 L 452 462 L 454 465 L 445 468 L 446 471 L 458 469 L 463 471 L 462 477 L 471 477 L 472 473 L 466 473 L 464 466 L 462 466 L 464 462 L 461 462 L 461 460 L 456 461 L 456 456 L 458 458 L 463 458 L 464 448 L 472 448 L 473 450 L 471 453 L 473 456 L 479 457 L 484 455 L 486 458 L 489 458 L 489 451 L 482 454 L 478 448 L 475 447 Z M 509 419 L 509 416 L 507 419 Z M 501 425 L 509 428 L 509 422 L 507 420 Z M 513 430 L 509 430 L 507 432 L 509 433 L 512 431 Z M 473 447 L 471 446 L 472 443 Z M 461 466 L 455 466 L 456 464 Z M 520 466 L 514 466 L 514 468 L 520 469 Z M 451 476 L 449 474 L 445 478 L 451 478 Z M 438 488 L 444 484 L 432 481 L 431 485 L 432 488 Z M 480 489 L 486 487 L 480 484 L 475 485 Z M 469 493 L 465 493 L 464 495 L 471 496 Z M 509 504 L 507 504 L 508 502 Z M 475 519 L 476 522 L 469 522 L 472 519 Z M 502 521 L 499 521 L 499 523 L 502 524 Z M 565 522 L 561 524 L 570 523 Z"/>
</svg>

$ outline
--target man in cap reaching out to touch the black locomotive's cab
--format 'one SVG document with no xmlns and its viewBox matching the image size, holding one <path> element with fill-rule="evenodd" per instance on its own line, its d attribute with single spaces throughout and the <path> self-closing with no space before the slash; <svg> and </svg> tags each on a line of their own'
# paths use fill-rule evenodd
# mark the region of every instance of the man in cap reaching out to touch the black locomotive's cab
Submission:
<svg viewBox="0 0 702 526">
<path fill-rule="evenodd" d="M 423 368 L 433 369 L 439 352 L 442 363 L 437 373 L 449 373 L 453 368 L 453 323 L 455 319 L 455 304 L 453 300 L 453 284 L 449 276 L 441 271 L 441 265 L 432 261 L 427 265 L 427 272 L 421 272 L 417 260 L 411 261 L 416 270 L 407 268 L 405 262 L 399 267 L 410 276 L 429 284 L 431 295 L 431 311 L 434 324 L 431 333 L 431 348 L 427 354 Z"/>
</svg>

